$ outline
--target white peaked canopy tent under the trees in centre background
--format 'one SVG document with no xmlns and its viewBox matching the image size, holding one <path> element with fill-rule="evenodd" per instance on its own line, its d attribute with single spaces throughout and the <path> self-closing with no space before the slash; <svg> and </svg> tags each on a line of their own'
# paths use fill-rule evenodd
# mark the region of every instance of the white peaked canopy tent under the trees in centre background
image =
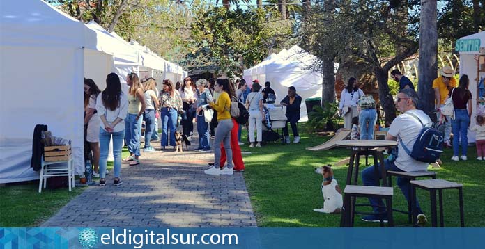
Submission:
<svg viewBox="0 0 485 249">
<path fill-rule="evenodd" d="M 258 79 L 264 87 L 265 81 L 270 81 L 271 88 L 276 93 L 276 103 L 288 95 L 288 87 L 294 86 L 296 93 L 302 97 L 300 106 L 300 122 L 308 120 L 305 99 L 322 96 L 322 74 L 312 72 L 308 67 L 318 58 L 297 45 L 268 58 L 258 65 L 245 70 L 243 79 L 249 84 Z M 250 75 L 249 75 L 250 73 Z"/>
</svg>

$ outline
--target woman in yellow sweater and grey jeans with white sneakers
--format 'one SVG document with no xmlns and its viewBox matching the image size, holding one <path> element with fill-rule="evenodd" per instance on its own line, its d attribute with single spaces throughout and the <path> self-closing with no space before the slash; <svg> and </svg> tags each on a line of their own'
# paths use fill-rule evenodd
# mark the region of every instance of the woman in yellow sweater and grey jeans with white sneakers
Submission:
<svg viewBox="0 0 485 249">
<path fill-rule="evenodd" d="M 204 170 L 206 175 L 233 175 L 233 161 L 231 150 L 231 129 L 233 122 L 231 120 L 231 93 L 232 88 L 229 86 L 227 79 L 217 79 L 214 90 L 220 93 L 217 102 L 210 102 L 209 105 L 217 111 L 217 129 L 215 129 L 214 138 L 214 165 L 208 170 Z M 224 143 L 224 149 L 227 156 L 227 165 L 220 168 L 221 143 Z"/>
</svg>

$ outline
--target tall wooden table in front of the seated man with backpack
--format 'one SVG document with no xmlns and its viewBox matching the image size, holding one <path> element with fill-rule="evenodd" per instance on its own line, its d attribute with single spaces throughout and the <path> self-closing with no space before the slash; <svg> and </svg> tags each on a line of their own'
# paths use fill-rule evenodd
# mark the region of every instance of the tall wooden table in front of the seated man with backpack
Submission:
<svg viewBox="0 0 485 249">
<path fill-rule="evenodd" d="M 366 155 L 366 162 L 367 156 L 371 154 L 374 157 L 374 165 L 378 164 L 378 161 L 382 165 L 384 165 L 384 155 L 383 152 L 377 150 L 379 148 L 387 148 L 387 147 L 396 147 L 397 141 L 390 141 L 390 140 L 344 140 L 338 141 L 337 146 L 339 147 L 346 147 L 350 148 L 351 151 L 351 159 L 348 161 L 348 172 L 347 172 L 347 182 L 346 184 L 353 184 L 357 185 L 357 179 L 359 177 L 359 158 L 361 154 Z M 354 167 L 354 160 L 355 160 L 355 179 L 352 180 L 353 175 L 353 167 Z M 367 163 L 366 163 L 367 164 Z M 378 168 L 375 167 L 376 176 L 379 175 Z M 383 179 L 383 185 L 387 186 L 387 177 L 385 173 L 385 167 L 380 167 L 380 177 Z M 379 178 L 376 177 L 376 184 L 380 186 Z"/>
</svg>

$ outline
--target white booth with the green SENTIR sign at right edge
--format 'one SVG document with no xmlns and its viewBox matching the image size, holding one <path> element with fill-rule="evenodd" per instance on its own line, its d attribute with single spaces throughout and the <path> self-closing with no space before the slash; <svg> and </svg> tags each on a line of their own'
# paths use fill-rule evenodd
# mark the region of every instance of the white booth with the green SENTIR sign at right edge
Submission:
<svg viewBox="0 0 485 249">
<path fill-rule="evenodd" d="M 478 71 L 478 58 L 479 55 L 485 55 L 485 31 L 475 33 L 472 35 L 465 36 L 460 38 L 456 41 L 456 47 L 459 47 L 459 42 L 463 40 L 479 40 L 479 45 L 477 49 L 468 49 L 468 50 L 477 50 L 477 51 L 460 51 L 460 77 L 463 74 L 468 75 L 468 79 L 470 79 L 470 92 L 472 93 L 472 103 L 473 103 L 473 112 L 472 118 L 470 119 L 471 125 L 476 125 L 475 115 L 477 114 L 477 83 L 480 77 L 485 78 L 485 72 Z M 468 130 L 468 142 L 475 143 L 475 132 Z"/>
</svg>

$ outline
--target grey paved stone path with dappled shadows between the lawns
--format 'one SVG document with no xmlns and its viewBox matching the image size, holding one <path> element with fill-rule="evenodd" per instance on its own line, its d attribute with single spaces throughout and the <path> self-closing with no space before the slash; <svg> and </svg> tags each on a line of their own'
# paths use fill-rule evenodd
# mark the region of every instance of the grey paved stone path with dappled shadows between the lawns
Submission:
<svg viewBox="0 0 485 249">
<path fill-rule="evenodd" d="M 123 162 L 123 185 L 110 173 L 106 186 L 89 186 L 42 226 L 256 227 L 244 173 L 204 175 L 213 153 L 193 147 L 144 153 L 138 166 Z"/>
</svg>

